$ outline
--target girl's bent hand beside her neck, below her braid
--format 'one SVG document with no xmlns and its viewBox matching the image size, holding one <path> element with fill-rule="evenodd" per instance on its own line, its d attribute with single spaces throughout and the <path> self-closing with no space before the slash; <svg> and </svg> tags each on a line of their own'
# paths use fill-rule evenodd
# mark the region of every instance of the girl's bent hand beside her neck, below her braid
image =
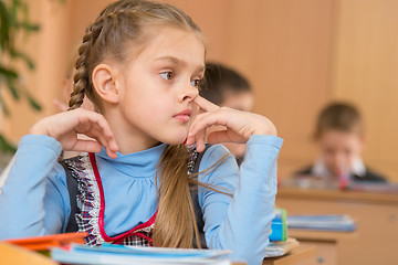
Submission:
<svg viewBox="0 0 398 265">
<path fill-rule="evenodd" d="M 78 139 L 77 134 L 95 140 Z M 60 141 L 66 151 L 98 152 L 104 146 L 109 157 L 117 157 L 118 147 L 104 116 L 83 108 L 41 119 L 33 125 L 30 135 L 50 136 Z"/>
</svg>

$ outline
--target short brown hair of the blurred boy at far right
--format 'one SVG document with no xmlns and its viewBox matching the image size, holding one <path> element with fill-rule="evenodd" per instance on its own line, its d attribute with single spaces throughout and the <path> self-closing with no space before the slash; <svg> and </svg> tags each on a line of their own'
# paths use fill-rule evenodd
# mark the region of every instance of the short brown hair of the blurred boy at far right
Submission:
<svg viewBox="0 0 398 265">
<path fill-rule="evenodd" d="M 339 130 L 364 134 L 364 123 L 358 109 L 348 103 L 331 103 L 320 114 L 314 138 L 320 138 L 325 131 Z"/>
</svg>

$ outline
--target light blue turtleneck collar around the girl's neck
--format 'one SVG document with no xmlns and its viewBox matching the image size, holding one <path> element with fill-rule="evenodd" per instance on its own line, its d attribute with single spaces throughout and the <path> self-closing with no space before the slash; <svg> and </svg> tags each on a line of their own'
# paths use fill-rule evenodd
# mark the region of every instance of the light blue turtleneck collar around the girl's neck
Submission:
<svg viewBox="0 0 398 265">
<path fill-rule="evenodd" d="M 105 148 L 103 148 L 101 152 L 96 153 L 96 157 L 102 163 L 106 163 L 107 166 L 122 171 L 129 177 L 147 178 L 155 176 L 156 167 L 166 147 L 166 144 L 160 144 L 139 152 L 127 155 L 117 152 L 117 158 L 115 159 L 109 158 Z"/>
</svg>

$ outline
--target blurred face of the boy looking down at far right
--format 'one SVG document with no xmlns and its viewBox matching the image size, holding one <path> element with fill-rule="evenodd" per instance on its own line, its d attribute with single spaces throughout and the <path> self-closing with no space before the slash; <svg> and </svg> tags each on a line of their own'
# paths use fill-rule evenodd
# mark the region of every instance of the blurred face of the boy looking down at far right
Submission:
<svg viewBox="0 0 398 265">
<path fill-rule="evenodd" d="M 339 130 L 325 131 L 317 142 L 326 167 L 335 176 L 350 170 L 354 158 L 360 155 L 364 146 L 358 134 Z"/>
</svg>

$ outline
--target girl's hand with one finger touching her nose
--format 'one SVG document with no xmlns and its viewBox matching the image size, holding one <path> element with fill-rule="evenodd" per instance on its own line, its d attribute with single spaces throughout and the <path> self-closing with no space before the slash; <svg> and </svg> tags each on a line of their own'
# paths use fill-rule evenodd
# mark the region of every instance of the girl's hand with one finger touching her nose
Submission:
<svg viewBox="0 0 398 265">
<path fill-rule="evenodd" d="M 193 103 L 205 113 L 195 118 L 188 132 L 187 145 L 196 142 L 199 152 L 205 150 L 206 129 L 212 125 L 221 125 L 226 129 L 209 134 L 209 144 L 247 142 L 252 135 L 276 136 L 275 126 L 264 116 L 219 107 L 200 96 L 197 96 Z"/>
</svg>

